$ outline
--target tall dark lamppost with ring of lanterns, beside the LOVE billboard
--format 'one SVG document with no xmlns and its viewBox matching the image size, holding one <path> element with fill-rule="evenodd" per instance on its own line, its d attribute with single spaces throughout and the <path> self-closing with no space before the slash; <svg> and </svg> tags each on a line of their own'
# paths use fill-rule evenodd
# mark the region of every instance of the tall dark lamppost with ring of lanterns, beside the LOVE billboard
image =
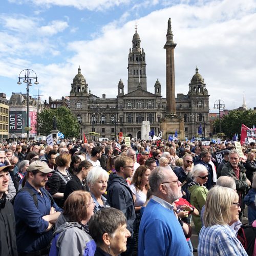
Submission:
<svg viewBox="0 0 256 256">
<path fill-rule="evenodd" d="M 25 75 L 22 75 L 22 73 L 25 73 Z M 35 76 L 31 76 L 31 73 L 35 74 Z M 37 81 L 37 75 L 35 71 L 32 69 L 24 69 L 23 71 L 21 71 L 18 76 L 17 84 L 22 84 L 22 82 L 20 82 L 20 79 L 23 79 L 23 82 L 27 83 L 27 141 L 29 141 L 29 87 L 32 86 L 32 80 L 35 79 L 34 84 L 38 84 L 39 82 Z"/>
</svg>

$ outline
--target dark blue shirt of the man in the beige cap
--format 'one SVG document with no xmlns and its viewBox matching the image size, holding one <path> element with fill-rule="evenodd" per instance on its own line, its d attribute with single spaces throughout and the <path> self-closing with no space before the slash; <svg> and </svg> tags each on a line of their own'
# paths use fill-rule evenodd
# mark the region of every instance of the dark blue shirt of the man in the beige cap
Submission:
<svg viewBox="0 0 256 256">
<path fill-rule="evenodd" d="M 53 228 L 46 232 L 49 222 L 42 219 L 50 214 L 51 200 L 46 190 L 40 188 L 40 196 L 28 182 L 28 187 L 37 193 L 38 207 L 36 207 L 32 196 L 28 191 L 17 194 L 14 200 L 14 212 L 16 220 L 16 239 L 18 252 L 32 252 L 50 245 L 53 235 Z M 62 211 L 56 203 L 52 205 L 56 211 Z"/>
</svg>

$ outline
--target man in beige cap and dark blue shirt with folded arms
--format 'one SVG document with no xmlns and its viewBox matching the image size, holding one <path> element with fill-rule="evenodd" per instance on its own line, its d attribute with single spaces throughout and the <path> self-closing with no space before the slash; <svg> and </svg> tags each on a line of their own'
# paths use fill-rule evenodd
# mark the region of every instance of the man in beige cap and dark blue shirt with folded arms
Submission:
<svg viewBox="0 0 256 256">
<path fill-rule="evenodd" d="M 32 162 L 25 176 L 26 184 L 14 200 L 16 240 L 20 256 L 49 253 L 53 226 L 62 211 L 44 188 L 50 172 L 52 169 L 46 162 Z"/>
</svg>

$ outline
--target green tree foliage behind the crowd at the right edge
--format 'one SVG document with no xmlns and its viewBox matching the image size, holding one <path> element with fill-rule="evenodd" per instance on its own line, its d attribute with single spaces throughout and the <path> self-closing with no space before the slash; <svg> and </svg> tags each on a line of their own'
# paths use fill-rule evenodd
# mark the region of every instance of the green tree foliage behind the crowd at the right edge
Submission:
<svg viewBox="0 0 256 256">
<path fill-rule="evenodd" d="M 228 115 L 224 115 L 221 118 L 221 132 L 232 139 L 233 135 L 241 134 L 242 123 L 249 128 L 253 127 L 253 124 L 256 125 L 256 112 L 253 110 L 232 110 Z M 214 122 L 216 133 L 220 132 L 220 120 L 217 119 Z"/>
</svg>

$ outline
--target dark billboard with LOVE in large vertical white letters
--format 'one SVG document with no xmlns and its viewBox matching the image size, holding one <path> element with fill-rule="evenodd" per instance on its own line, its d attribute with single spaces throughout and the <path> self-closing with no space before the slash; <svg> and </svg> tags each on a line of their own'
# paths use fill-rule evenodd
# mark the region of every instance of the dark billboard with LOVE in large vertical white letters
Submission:
<svg viewBox="0 0 256 256">
<path fill-rule="evenodd" d="M 9 133 L 26 133 L 26 111 L 9 112 Z"/>
</svg>

